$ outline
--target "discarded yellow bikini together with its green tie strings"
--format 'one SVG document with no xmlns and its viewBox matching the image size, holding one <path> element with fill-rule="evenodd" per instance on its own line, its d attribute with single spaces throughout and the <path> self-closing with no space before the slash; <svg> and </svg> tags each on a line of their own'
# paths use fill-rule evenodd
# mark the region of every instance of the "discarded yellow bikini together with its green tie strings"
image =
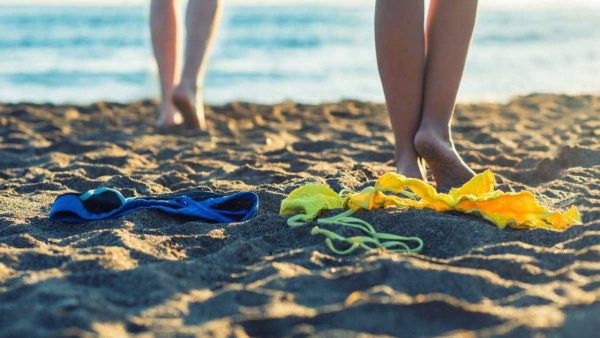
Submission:
<svg viewBox="0 0 600 338">
<path fill-rule="evenodd" d="M 361 209 L 398 207 L 456 210 L 481 215 L 500 229 L 509 226 L 517 229 L 564 230 L 581 222 L 579 211 L 574 206 L 564 213 L 551 211 L 542 206 L 530 191 L 506 193 L 495 190 L 495 187 L 496 179 L 489 170 L 475 175 L 462 187 L 451 189 L 447 194 L 438 193 L 433 186 L 422 180 L 386 173 L 377 180 L 374 187 L 365 188 L 358 193 L 342 191 L 337 194 L 326 185 L 306 184 L 292 191 L 281 202 L 279 213 L 296 214 L 290 217 L 287 223 L 290 227 L 297 227 L 315 220 L 322 212 L 348 208 L 349 210 L 339 215 L 319 218 L 317 223 L 352 227 L 361 230 L 363 236 L 344 237 L 319 226 L 311 230 L 313 235 L 327 237 L 327 246 L 338 254 L 348 254 L 357 248 L 383 248 L 395 252 L 422 250 L 423 241 L 418 237 L 378 233 L 369 223 L 351 217 L 355 211 Z M 333 241 L 345 242 L 349 247 L 340 250 L 333 245 Z"/>
</svg>

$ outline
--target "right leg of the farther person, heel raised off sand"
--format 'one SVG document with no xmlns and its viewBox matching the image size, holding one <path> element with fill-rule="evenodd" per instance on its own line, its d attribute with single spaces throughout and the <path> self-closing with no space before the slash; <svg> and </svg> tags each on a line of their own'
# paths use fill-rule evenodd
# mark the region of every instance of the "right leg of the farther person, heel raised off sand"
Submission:
<svg viewBox="0 0 600 338">
<path fill-rule="evenodd" d="M 202 87 L 220 8 L 220 0 L 190 0 L 188 3 L 183 70 L 173 92 L 173 103 L 183 115 L 186 126 L 192 129 L 206 129 Z"/>
</svg>

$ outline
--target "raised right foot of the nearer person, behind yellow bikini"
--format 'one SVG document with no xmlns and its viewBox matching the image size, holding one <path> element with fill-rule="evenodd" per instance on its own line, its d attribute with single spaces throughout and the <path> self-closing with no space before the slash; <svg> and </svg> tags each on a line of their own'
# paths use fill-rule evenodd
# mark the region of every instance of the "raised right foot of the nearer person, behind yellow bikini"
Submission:
<svg viewBox="0 0 600 338">
<path fill-rule="evenodd" d="M 446 136 L 435 128 L 421 125 L 415 135 L 415 149 L 429 165 L 438 191 L 459 187 L 475 175 L 456 152 L 449 133 Z"/>
</svg>

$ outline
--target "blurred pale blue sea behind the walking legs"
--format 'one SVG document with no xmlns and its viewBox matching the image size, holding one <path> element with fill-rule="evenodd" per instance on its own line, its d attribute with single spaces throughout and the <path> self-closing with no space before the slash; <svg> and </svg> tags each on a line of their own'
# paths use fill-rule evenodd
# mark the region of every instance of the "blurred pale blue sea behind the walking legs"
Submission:
<svg viewBox="0 0 600 338">
<path fill-rule="evenodd" d="M 146 6 L 0 5 L 0 101 L 156 96 Z M 373 2 L 227 5 L 206 98 L 383 101 Z M 460 100 L 600 92 L 600 10 L 480 9 Z"/>
</svg>

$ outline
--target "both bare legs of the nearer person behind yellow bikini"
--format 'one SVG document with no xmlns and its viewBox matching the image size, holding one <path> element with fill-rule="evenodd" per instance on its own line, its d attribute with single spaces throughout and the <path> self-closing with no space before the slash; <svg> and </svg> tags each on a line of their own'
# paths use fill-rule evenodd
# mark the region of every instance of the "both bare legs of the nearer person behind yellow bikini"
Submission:
<svg viewBox="0 0 600 338">
<path fill-rule="evenodd" d="M 450 132 L 456 94 L 475 24 L 477 0 L 377 0 L 377 63 L 396 140 L 396 168 L 423 178 L 427 162 L 438 187 L 473 176 Z M 426 27 L 425 27 L 426 26 Z"/>
</svg>

